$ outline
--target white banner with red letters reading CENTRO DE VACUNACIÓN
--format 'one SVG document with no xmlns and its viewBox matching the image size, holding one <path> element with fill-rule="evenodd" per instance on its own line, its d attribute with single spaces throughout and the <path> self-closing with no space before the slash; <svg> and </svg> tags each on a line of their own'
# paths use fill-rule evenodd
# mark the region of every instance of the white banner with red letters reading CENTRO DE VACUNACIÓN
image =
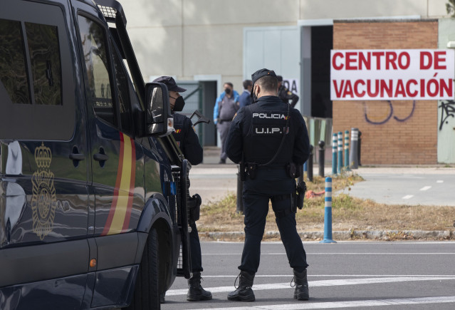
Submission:
<svg viewBox="0 0 455 310">
<path fill-rule="evenodd" d="M 331 100 L 454 99 L 453 49 L 332 50 Z"/>
</svg>

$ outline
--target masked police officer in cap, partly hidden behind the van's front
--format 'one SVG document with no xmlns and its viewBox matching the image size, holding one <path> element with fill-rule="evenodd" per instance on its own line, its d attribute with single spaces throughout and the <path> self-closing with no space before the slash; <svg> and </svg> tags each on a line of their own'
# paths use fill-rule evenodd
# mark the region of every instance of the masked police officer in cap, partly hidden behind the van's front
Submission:
<svg viewBox="0 0 455 310">
<path fill-rule="evenodd" d="M 179 93 L 187 91 L 185 88 L 177 86 L 174 78 L 170 76 L 161 76 L 154 82 L 164 83 L 169 91 L 169 103 L 171 105 L 172 115 L 174 116 L 174 135 L 177 144 L 182 150 L 184 157 L 192 164 L 199 165 L 202 162 L 203 150 L 199 144 L 199 139 L 194 132 L 192 121 L 187 116 L 175 113 L 183 110 L 185 102 Z M 206 291 L 201 286 L 202 255 L 201 244 L 199 243 L 199 234 L 196 223 L 193 222 L 189 233 L 189 247 L 191 254 L 191 264 L 193 276 L 188 279 L 188 301 L 210 300 L 211 292 Z M 164 296 L 162 296 L 162 301 Z"/>
</svg>

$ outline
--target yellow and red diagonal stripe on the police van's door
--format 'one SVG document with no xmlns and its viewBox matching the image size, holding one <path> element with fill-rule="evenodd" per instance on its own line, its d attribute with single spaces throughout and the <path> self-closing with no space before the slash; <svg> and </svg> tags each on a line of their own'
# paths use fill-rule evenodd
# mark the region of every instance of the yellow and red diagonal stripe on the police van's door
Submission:
<svg viewBox="0 0 455 310">
<path fill-rule="evenodd" d="M 132 198 L 135 190 L 135 141 L 120 133 L 120 154 L 113 203 L 102 236 L 125 232 L 130 225 Z"/>
</svg>

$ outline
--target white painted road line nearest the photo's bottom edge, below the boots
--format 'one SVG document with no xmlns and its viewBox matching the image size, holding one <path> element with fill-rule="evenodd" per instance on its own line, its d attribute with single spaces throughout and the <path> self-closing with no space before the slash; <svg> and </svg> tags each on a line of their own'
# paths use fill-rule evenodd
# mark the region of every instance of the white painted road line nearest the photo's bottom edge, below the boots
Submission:
<svg viewBox="0 0 455 310">
<path fill-rule="evenodd" d="M 419 298 L 397 298 L 397 299 L 371 299 L 354 301 L 328 301 L 328 302 L 304 302 L 301 304 L 271 304 L 263 306 L 240 306 L 229 308 L 210 308 L 200 310 L 285 310 L 285 309 L 335 309 L 335 308 L 356 308 L 370 306 L 403 306 L 407 304 L 446 304 L 455 302 L 455 296 L 419 297 Z"/>
</svg>

